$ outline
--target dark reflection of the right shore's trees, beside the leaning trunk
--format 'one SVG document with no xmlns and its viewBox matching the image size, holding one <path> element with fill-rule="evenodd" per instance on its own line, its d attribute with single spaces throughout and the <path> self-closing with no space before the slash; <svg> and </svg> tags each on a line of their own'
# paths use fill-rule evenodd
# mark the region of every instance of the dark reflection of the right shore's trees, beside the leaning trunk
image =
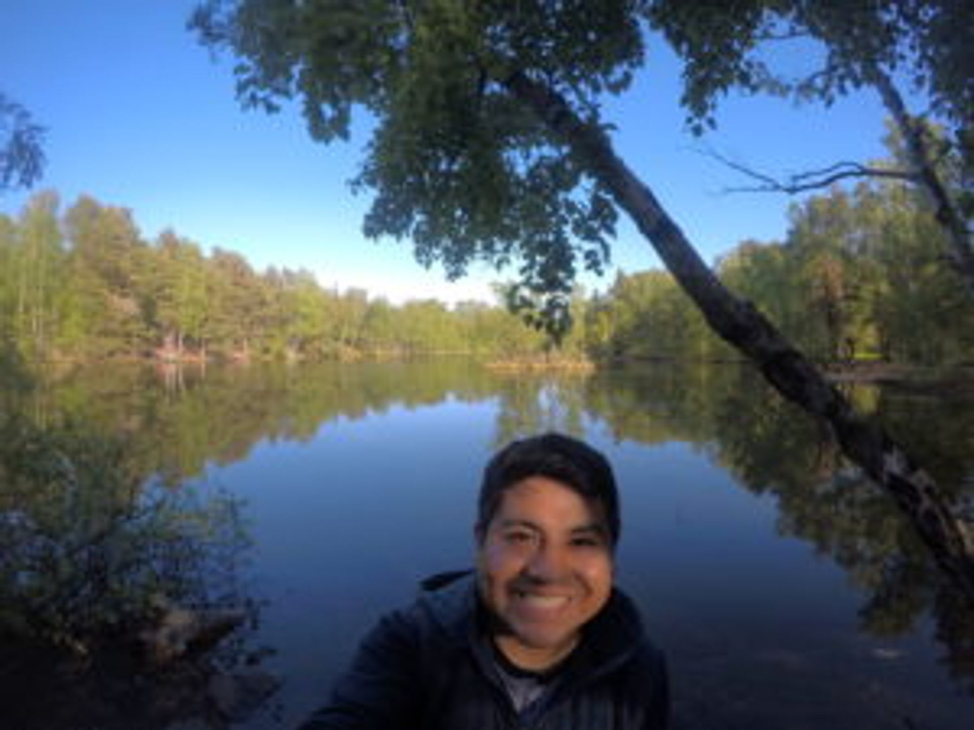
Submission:
<svg viewBox="0 0 974 730">
<path fill-rule="evenodd" d="M 656 371 L 663 372 L 656 372 Z M 618 438 L 703 444 L 749 490 L 771 493 L 778 529 L 812 543 L 869 594 L 863 627 L 877 635 L 908 632 L 929 612 L 947 647 L 952 673 L 974 677 L 974 610 L 941 571 L 889 499 L 849 467 L 828 432 L 768 390 L 748 370 L 710 368 L 702 377 L 676 368 L 645 377 L 593 379 L 588 408 Z M 974 409 L 936 408 L 928 399 L 856 394 L 871 400 L 883 422 L 918 445 L 925 462 L 955 495 L 974 504 Z M 946 418 L 945 418 L 946 417 Z M 964 491 L 964 476 L 967 476 Z"/>
</svg>

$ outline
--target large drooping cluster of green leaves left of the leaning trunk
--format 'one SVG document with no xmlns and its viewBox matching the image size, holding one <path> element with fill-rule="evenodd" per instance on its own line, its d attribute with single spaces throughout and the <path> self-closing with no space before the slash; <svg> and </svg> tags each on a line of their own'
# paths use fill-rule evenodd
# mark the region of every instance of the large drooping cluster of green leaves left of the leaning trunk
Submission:
<svg viewBox="0 0 974 730">
<path fill-rule="evenodd" d="M 552 333 L 581 268 L 601 272 L 616 213 L 562 142 L 504 88 L 543 78 L 589 124 L 643 60 L 634 4 L 599 2 L 209 2 L 193 26 L 241 58 L 252 106 L 297 96 L 313 137 L 347 138 L 352 109 L 375 119 L 356 190 L 363 229 L 408 239 L 450 278 L 471 261 L 515 266 Z"/>
</svg>

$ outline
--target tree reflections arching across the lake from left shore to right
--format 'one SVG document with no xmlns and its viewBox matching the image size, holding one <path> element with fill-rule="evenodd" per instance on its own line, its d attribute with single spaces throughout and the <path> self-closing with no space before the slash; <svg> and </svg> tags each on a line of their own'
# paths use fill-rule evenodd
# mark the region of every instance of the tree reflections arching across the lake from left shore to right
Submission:
<svg viewBox="0 0 974 730">
<path fill-rule="evenodd" d="M 955 485 L 958 498 L 974 503 L 969 476 L 974 474 L 974 409 L 969 400 L 934 402 L 916 393 L 904 397 L 876 388 L 850 395 L 864 409 L 879 412 L 899 439 L 915 445 L 939 482 Z M 940 583 L 925 550 L 888 499 L 858 484 L 861 474 L 843 461 L 828 434 L 797 417 L 747 368 L 684 363 L 583 378 L 506 377 L 468 360 L 441 358 L 354 366 L 255 365 L 205 373 L 186 369 L 169 381 L 151 370 L 114 369 L 100 376 L 62 376 L 33 396 L 25 410 L 50 422 L 69 418 L 94 432 L 123 434 L 130 474 L 161 473 L 175 485 L 202 473 L 207 461 L 243 458 L 261 440 L 310 439 L 330 420 L 434 405 L 447 397 L 496 399 L 497 446 L 549 429 L 582 435 L 586 418 L 604 421 L 617 439 L 698 445 L 747 489 L 773 494 L 779 529 L 815 545 L 868 592 L 861 611 L 868 631 L 908 631 L 929 612 L 955 674 L 974 675 L 969 618 L 974 611 L 965 611 Z"/>
</svg>

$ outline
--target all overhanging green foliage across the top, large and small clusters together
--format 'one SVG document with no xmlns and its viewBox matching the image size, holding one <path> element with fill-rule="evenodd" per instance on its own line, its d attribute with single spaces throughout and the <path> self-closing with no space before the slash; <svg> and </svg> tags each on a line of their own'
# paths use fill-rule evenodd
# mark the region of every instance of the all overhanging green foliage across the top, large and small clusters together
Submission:
<svg viewBox="0 0 974 730">
<path fill-rule="evenodd" d="M 600 100 L 644 63 L 650 26 L 686 61 L 683 102 L 698 132 L 716 124 L 732 88 L 831 103 L 875 84 L 879 69 L 924 91 L 969 152 L 974 31 L 964 18 L 958 0 L 208 0 L 191 25 L 238 57 L 244 106 L 277 111 L 295 99 L 325 142 L 349 136 L 356 107 L 374 118 L 356 178 L 375 193 L 366 234 L 410 240 L 421 263 L 441 261 L 450 276 L 475 258 L 517 262 L 524 294 L 514 303 L 559 332 L 574 276 L 609 260 L 617 213 L 604 180 L 510 92 L 514 74 L 543 80 L 603 127 Z M 821 66 L 783 78 L 763 44 L 796 36 L 821 43 Z"/>
</svg>

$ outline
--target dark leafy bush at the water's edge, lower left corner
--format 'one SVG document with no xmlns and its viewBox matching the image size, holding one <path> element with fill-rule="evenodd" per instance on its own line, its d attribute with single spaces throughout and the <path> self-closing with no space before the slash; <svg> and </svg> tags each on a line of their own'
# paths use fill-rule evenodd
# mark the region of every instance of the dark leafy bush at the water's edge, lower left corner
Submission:
<svg viewBox="0 0 974 730">
<path fill-rule="evenodd" d="M 0 391 L 0 725 L 151 729 L 213 712 L 214 662 L 237 666 L 243 638 L 165 665 L 149 663 L 144 638 L 172 606 L 256 620 L 237 501 L 173 490 L 87 427 L 42 429 L 11 393 Z"/>
</svg>

